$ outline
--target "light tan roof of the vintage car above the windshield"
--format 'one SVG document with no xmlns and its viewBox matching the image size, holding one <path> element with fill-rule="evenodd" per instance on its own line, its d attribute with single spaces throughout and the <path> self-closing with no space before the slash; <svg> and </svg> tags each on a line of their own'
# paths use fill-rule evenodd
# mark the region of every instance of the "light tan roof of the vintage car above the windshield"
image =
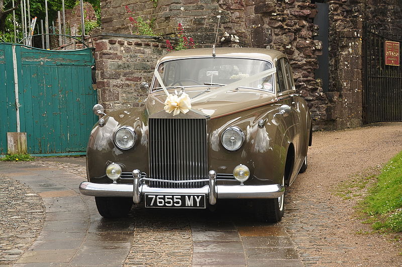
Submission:
<svg viewBox="0 0 402 267">
<path fill-rule="evenodd" d="M 282 52 L 264 48 L 243 47 L 219 47 L 215 49 L 217 57 L 246 57 L 263 59 L 273 62 L 275 58 L 285 56 Z M 212 48 L 196 48 L 170 52 L 158 60 L 158 63 L 166 60 L 186 57 L 212 57 Z"/>
</svg>

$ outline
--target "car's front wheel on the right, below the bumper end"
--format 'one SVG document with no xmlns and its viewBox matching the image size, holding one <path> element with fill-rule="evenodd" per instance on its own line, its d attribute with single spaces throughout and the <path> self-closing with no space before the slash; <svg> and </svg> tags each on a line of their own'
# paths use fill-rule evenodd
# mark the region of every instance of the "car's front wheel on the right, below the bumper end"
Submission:
<svg viewBox="0 0 402 267">
<path fill-rule="evenodd" d="M 285 176 L 283 174 L 282 185 L 285 184 Z M 259 221 L 275 223 L 279 222 L 284 213 L 285 194 L 277 199 L 256 200 L 256 217 Z"/>
</svg>

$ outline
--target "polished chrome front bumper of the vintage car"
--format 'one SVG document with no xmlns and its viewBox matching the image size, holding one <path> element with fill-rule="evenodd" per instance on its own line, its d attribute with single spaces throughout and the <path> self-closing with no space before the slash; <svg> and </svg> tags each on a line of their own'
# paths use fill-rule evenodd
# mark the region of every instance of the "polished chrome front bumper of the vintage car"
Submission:
<svg viewBox="0 0 402 267">
<path fill-rule="evenodd" d="M 282 185 L 264 186 L 229 186 L 216 185 L 217 199 L 273 199 L 283 195 L 285 189 Z M 210 187 L 202 188 L 151 188 L 147 185 L 139 185 L 138 192 L 147 194 L 206 194 L 209 195 Z M 130 184 L 95 184 L 82 182 L 79 185 L 82 195 L 96 197 L 133 197 L 134 186 Z"/>
</svg>

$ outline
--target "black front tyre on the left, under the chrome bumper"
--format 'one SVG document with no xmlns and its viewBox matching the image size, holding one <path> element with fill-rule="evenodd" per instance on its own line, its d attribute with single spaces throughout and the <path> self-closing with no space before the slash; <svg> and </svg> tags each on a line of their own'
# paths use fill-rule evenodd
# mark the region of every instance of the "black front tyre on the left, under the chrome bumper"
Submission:
<svg viewBox="0 0 402 267">
<path fill-rule="evenodd" d="M 125 217 L 133 207 L 131 198 L 95 197 L 97 211 L 105 218 Z"/>
</svg>

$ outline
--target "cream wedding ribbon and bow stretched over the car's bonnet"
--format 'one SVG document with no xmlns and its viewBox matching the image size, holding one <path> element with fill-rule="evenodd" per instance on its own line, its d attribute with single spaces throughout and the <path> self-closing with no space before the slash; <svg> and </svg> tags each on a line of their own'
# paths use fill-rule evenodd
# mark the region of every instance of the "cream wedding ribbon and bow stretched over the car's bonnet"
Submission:
<svg viewBox="0 0 402 267">
<path fill-rule="evenodd" d="M 270 68 L 270 69 L 261 71 L 257 74 L 251 75 L 250 77 L 243 78 L 241 80 L 238 80 L 238 81 L 229 83 L 225 86 L 219 87 L 212 92 L 208 92 L 208 94 L 196 96 L 193 99 L 190 99 L 186 93 L 177 94 L 177 91 L 175 91 L 174 95 L 169 94 L 169 92 L 166 89 L 166 86 L 163 84 L 162 78 L 159 75 L 159 72 L 157 69 L 155 69 L 154 74 L 155 74 L 155 77 L 158 80 L 160 86 L 162 87 L 163 91 L 165 92 L 165 94 L 167 96 L 166 101 L 164 103 L 165 104 L 164 110 L 167 113 L 173 112 L 173 116 L 176 116 L 176 115 L 180 114 L 180 112 L 183 114 L 187 113 L 189 111 L 189 109 L 191 109 L 191 103 L 200 102 L 200 101 L 203 101 L 206 99 L 216 97 L 217 95 L 220 95 L 227 91 L 236 90 L 236 88 L 238 88 L 238 87 L 247 87 L 247 85 L 250 84 L 251 82 L 265 78 L 269 75 L 274 74 L 275 72 L 276 72 L 276 68 Z"/>
</svg>

